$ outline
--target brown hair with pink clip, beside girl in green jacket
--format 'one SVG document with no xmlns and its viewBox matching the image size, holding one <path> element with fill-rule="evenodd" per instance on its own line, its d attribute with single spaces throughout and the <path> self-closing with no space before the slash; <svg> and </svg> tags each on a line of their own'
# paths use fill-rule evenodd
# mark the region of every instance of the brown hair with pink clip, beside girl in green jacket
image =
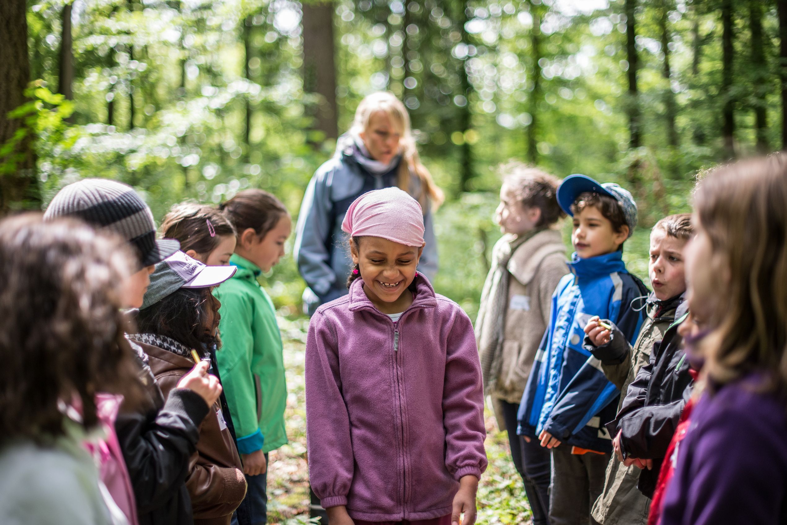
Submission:
<svg viewBox="0 0 787 525">
<path fill-rule="evenodd" d="M 208 255 L 221 242 L 221 235 L 235 236 L 235 227 L 224 213 L 209 205 L 181 202 L 164 216 L 161 231 L 165 238 L 180 241 L 180 250 Z M 213 235 L 211 235 L 211 233 Z"/>
</svg>

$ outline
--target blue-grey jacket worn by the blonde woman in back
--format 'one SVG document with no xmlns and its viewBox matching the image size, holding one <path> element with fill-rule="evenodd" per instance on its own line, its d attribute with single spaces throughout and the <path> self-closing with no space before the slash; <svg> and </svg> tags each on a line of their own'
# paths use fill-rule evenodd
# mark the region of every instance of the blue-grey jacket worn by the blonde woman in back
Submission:
<svg viewBox="0 0 787 525">
<path fill-rule="evenodd" d="M 397 185 L 399 161 L 393 161 L 388 172 L 369 172 L 357 159 L 360 152 L 349 134 L 339 137 L 334 156 L 317 169 L 301 202 L 295 234 L 294 257 L 298 272 L 306 281 L 304 306 L 309 315 L 317 307 L 347 294 L 346 280 L 353 269 L 349 246 L 342 231 L 342 220 L 349 205 L 371 190 Z M 421 183 L 410 178 L 408 193 L 418 199 Z M 419 272 L 434 279 L 438 269 L 437 242 L 430 209 L 424 209 L 423 238 L 427 245 L 419 263 Z"/>
</svg>

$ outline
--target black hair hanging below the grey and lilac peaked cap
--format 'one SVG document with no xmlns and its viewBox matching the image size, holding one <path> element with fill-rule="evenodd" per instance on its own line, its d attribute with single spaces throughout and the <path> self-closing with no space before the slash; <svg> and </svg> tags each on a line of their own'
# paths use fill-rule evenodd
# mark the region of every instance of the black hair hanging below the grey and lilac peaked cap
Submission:
<svg viewBox="0 0 787 525">
<path fill-rule="evenodd" d="M 219 300 L 212 288 L 180 288 L 137 314 L 137 327 L 142 334 L 165 335 L 197 350 L 205 357 L 204 346 L 220 346 L 219 338 L 205 333 L 205 325 L 213 314 L 219 320 Z"/>
</svg>

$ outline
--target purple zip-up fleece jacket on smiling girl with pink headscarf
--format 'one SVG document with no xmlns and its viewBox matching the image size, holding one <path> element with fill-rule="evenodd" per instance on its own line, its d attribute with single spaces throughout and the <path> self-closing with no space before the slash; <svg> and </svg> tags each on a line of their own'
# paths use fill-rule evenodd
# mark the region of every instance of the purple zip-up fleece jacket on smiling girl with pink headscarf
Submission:
<svg viewBox="0 0 787 525">
<path fill-rule="evenodd" d="M 312 316 L 306 342 L 309 479 L 324 508 L 400 521 L 451 513 L 486 469 L 481 366 L 470 319 L 417 275 L 398 323 L 356 279 Z"/>
</svg>

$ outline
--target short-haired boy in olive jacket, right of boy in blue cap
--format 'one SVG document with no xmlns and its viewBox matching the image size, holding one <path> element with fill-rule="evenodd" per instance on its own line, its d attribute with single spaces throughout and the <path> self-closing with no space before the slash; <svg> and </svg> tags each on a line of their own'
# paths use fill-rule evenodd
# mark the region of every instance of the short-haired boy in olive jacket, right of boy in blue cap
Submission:
<svg viewBox="0 0 787 525">
<path fill-rule="evenodd" d="M 611 321 L 601 321 L 610 326 L 611 331 L 601 326 L 597 317 L 591 318 L 585 327 L 585 349 L 599 358 L 607 379 L 623 393 L 619 411 L 624 405 L 629 385 L 651 359 L 654 345 L 666 340 L 667 331 L 672 330 L 675 321 L 685 315 L 687 303 L 684 300 L 686 283 L 682 252 L 692 235 L 689 213 L 664 217 L 653 227 L 648 261 L 653 292 L 647 301 L 641 303 L 647 318 L 634 346 L 626 341 Z M 610 431 L 610 434 L 617 432 Z M 614 444 L 615 439 L 613 448 Z M 653 468 L 657 466 L 654 462 Z M 612 458 L 607 467 L 604 492 L 593 505 L 593 519 L 602 525 L 646 525 L 650 499 L 637 490 L 641 472 L 637 465 L 626 467 L 617 458 Z"/>
</svg>

